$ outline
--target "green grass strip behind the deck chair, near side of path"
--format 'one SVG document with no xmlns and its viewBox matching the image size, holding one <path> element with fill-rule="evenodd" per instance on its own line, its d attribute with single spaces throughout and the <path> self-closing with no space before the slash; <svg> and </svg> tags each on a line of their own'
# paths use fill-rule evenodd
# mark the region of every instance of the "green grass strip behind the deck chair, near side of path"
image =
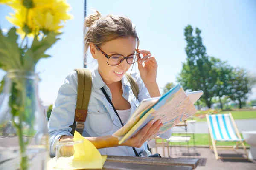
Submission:
<svg viewBox="0 0 256 170">
<path fill-rule="evenodd" d="M 191 139 L 189 141 L 189 145 L 193 146 L 193 136 L 192 134 L 178 134 L 178 133 L 172 133 L 172 136 L 191 136 Z M 242 134 L 241 134 L 242 137 Z M 162 140 L 157 139 L 157 142 L 161 142 Z M 236 142 L 217 142 L 217 146 L 234 146 Z M 187 145 L 187 142 L 172 142 L 172 145 Z M 209 137 L 208 133 L 196 133 L 195 134 L 195 145 L 207 145 L 209 146 Z M 245 146 L 249 146 L 248 144 L 245 143 Z"/>
</svg>

